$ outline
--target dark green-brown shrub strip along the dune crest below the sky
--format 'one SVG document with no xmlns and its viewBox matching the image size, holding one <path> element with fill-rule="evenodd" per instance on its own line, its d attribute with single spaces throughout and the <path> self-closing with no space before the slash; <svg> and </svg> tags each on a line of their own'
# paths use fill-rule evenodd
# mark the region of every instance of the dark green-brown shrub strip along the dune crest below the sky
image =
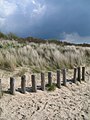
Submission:
<svg viewBox="0 0 90 120">
<path fill-rule="evenodd" d="M 15 40 L 15 41 L 18 41 L 18 43 L 30 43 L 30 42 L 34 42 L 34 43 L 54 43 L 54 44 L 57 44 L 57 45 L 61 45 L 61 46 L 64 46 L 64 45 L 75 45 L 75 46 L 82 46 L 82 47 L 90 47 L 90 44 L 87 44 L 87 43 L 83 43 L 83 44 L 75 44 L 75 43 L 70 43 L 70 42 L 66 42 L 66 41 L 60 41 L 60 40 L 57 40 L 57 39 L 41 39 L 41 38 L 34 38 L 34 37 L 26 37 L 26 38 L 21 38 L 21 37 L 18 37 L 17 35 L 15 35 L 14 33 L 8 33 L 8 34 L 4 34 L 2 32 L 0 32 L 0 38 L 2 39 L 5 39 L 5 40 Z"/>
</svg>

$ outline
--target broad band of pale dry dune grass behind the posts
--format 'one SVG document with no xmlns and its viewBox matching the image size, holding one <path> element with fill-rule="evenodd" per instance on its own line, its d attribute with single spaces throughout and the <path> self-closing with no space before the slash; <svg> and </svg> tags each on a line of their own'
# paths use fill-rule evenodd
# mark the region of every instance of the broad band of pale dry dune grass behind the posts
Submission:
<svg viewBox="0 0 90 120">
<path fill-rule="evenodd" d="M 0 46 L 1 69 L 13 71 L 16 67 L 27 66 L 38 72 L 90 64 L 90 48 L 87 47 L 21 44 L 10 40 L 1 40 Z"/>
</svg>

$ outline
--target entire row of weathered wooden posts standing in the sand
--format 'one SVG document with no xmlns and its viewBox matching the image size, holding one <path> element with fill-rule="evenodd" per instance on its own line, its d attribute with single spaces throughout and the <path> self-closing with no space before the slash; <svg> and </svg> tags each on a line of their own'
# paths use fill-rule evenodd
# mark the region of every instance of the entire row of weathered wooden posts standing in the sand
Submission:
<svg viewBox="0 0 90 120">
<path fill-rule="evenodd" d="M 62 70 L 63 75 L 63 85 L 66 86 L 67 79 L 66 79 L 66 69 Z M 72 78 L 72 82 L 76 83 L 77 81 L 81 82 L 81 80 L 85 81 L 85 67 L 78 67 L 74 68 L 74 74 Z M 32 82 L 32 92 L 37 92 L 37 83 L 35 79 L 35 75 L 31 75 L 31 82 Z M 13 77 L 10 77 L 10 94 L 15 94 L 15 79 Z M 52 85 L 52 73 L 48 72 L 48 85 Z M 60 78 L 60 70 L 57 70 L 57 83 L 58 88 L 61 88 L 61 78 Z M 41 90 L 45 90 L 45 75 L 42 72 L 41 73 Z M 2 86 L 1 86 L 1 79 L 0 79 L 0 93 L 2 92 Z M 23 75 L 21 77 L 21 92 L 23 94 L 26 93 L 26 76 Z"/>
</svg>

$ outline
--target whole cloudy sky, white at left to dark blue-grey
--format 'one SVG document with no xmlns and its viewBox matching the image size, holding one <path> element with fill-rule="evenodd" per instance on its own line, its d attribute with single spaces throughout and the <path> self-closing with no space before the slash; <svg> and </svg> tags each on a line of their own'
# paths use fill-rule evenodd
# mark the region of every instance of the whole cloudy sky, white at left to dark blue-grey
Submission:
<svg viewBox="0 0 90 120">
<path fill-rule="evenodd" d="M 90 0 L 0 0 L 0 31 L 90 43 Z"/>
</svg>

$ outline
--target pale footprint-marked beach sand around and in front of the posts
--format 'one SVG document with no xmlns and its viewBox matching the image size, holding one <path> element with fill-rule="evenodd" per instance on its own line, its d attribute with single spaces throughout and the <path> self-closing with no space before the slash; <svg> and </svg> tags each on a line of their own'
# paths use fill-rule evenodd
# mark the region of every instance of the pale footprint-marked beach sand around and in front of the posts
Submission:
<svg viewBox="0 0 90 120">
<path fill-rule="evenodd" d="M 3 78 L 4 90 L 9 88 L 10 75 L 8 74 L 7 79 Z M 0 120 L 90 120 L 89 76 L 86 74 L 85 82 L 70 82 L 66 87 L 56 88 L 52 92 L 38 90 L 37 93 L 32 93 L 29 89 L 31 80 L 27 73 L 26 94 L 18 91 L 20 77 L 16 77 L 16 94 L 4 93 L 0 99 Z M 37 83 L 40 85 L 39 77 Z M 55 82 L 55 75 L 53 81 Z"/>
</svg>

